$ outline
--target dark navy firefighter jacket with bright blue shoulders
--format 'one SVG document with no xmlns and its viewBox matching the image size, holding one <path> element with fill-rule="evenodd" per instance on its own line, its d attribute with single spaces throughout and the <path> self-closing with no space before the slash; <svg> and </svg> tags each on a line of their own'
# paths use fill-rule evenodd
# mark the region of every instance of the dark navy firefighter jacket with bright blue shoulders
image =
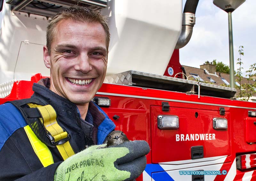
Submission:
<svg viewBox="0 0 256 181">
<path fill-rule="evenodd" d="M 93 102 L 89 103 L 84 120 L 74 103 L 53 93 L 49 87 L 50 79 L 41 79 L 33 85 L 35 93 L 32 97 L 19 100 L 18 103 L 32 101 L 50 104 L 56 111 L 59 125 L 69 133 L 69 143 L 75 153 L 90 145 L 102 144 L 108 133 L 114 130 L 115 124 Z M 15 102 L 0 105 L 0 180 L 53 181 L 55 170 L 63 161 L 60 152 L 50 144 L 51 142 L 49 143 L 49 140 L 44 142 L 46 132 L 38 129 L 36 136 L 47 145 L 54 162 L 43 167 L 24 131 L 28 121 L 21 112 L 26 105 L 21 106 L 21 111 L 14 105 Z"/>
</svg>

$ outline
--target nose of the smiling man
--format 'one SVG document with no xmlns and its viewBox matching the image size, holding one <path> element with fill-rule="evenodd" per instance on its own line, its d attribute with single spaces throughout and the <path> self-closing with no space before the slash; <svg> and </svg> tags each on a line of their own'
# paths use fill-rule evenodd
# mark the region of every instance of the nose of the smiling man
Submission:
<svg viewBox="0 0 256 181">
<path fill-rule="evenodd" d="M 79 57 L 77 57 L 75 69 L 83 73 L 87 73 L 92 70 L 92 65 L 90 64 L 90 59 L 87 54 L 81 54 Z"/>
</svg>

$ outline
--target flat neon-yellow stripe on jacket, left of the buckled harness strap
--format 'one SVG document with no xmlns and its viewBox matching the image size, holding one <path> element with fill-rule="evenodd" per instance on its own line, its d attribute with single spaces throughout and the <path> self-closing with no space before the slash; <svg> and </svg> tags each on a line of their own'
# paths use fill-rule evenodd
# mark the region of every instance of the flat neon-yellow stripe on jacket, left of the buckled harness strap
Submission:
<svg viewBox="0 0 256 181">
<path fill-rule="evenodd" d="M 35 133 L 32 131 L 29 125 L 25 126 L 24 130 L 27 133 L 28 139 L 34 149 L 34 152 L 36 153 L 43 166 L 47 167 L 48 165 L 51 165 L 53 163 L 53 158 L 49 148 L 36 137 Z"/>
</svg>

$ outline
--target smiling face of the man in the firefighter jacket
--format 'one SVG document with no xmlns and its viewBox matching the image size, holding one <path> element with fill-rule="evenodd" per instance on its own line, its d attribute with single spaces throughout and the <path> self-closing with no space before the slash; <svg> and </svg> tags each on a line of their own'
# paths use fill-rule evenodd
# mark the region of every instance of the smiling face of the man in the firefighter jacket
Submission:
<svg viewBox="0 0 256 181">
<path fill-rule="evenodd" d="M 50 89 L 77 105 L 90 102 L 107 70 L 103 26 L 97 22 L 62 20 L 54 36 L 51 55 L 44 46 L 44 63 L 51 68 Z"/>
</svg>

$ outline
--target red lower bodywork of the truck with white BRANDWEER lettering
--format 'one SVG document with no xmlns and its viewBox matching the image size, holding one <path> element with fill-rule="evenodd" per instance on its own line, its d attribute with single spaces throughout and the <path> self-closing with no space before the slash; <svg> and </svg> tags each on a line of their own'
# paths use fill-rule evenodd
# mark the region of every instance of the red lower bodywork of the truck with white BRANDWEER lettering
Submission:
<svg viewBox="0 0 256 181">
<path fill-rule="evenodd" d="M 0 103 L 29 98 L 32 84 L 41 77 L 36 74 L 31 81 L 16 81 L 11 94 Z M 107 83 L 96 97 L 111 100 L 111 105 L 102 109 L 116 130 L 125 132 L 130 140 L 146 140 L 151 148 L 147 167 L 137 180 L 202 179 L 180 172 L 198 170 L 215 171 L 204 175 L 207 181 L 256 178 L 256 117 L 248 115 L 248 111 L 256 111 L 255 103 Z M 159 129 L 159 115 L 177 116 L 179 127 Z M 225 118 L 228 128 L 214 129 L 214 118 Z"/>
</svg>

